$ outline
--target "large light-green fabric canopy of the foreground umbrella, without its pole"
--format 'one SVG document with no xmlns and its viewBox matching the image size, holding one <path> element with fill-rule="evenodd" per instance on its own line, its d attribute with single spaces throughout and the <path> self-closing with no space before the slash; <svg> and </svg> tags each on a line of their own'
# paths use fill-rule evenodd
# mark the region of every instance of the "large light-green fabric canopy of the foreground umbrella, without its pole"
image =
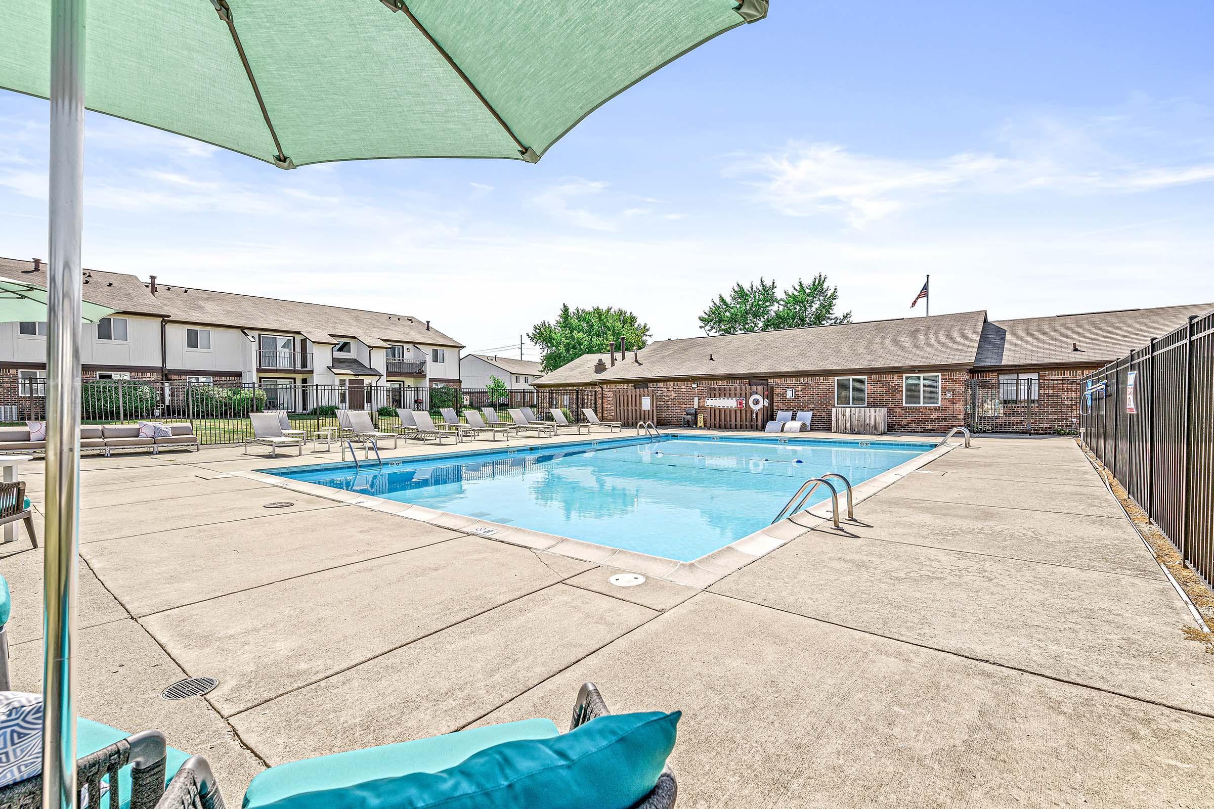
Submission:
<svg viewBox="0 0 1214 809">
<path fill-rule="evenodd" d="M 85 107 L 282 167 L 535 161 L 607 99 L 767 0 L 90 2 Z M 51 4 L 15 2 L 0 86 L 50 95 Z"/>
</svg>

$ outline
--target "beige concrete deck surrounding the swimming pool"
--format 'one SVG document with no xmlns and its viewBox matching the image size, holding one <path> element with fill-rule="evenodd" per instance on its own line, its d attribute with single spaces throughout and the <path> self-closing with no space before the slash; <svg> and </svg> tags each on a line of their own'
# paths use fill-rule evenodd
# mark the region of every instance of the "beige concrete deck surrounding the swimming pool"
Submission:
<svg viewBox="0 0 1214 809">
<path fill-rule="evenodd" d="M 336 457 L 84 458 L 81 714 L 205 754 L 233 804 L 266 764 L 563 725 L 586 679 L 617 711 L 683 711 L 681 807 L 1209 801 L 1214 655 L 1073 439 L 975 438 L 849 535 L 807 519 L 705 589 L 618 588 L 613 568 L 232 477 Z M 36 691 L 41 554 L 0 546 L 0 571 L 15 688 Z M 220 685 L 160 699 L 186 676 Z"/>
</svg>

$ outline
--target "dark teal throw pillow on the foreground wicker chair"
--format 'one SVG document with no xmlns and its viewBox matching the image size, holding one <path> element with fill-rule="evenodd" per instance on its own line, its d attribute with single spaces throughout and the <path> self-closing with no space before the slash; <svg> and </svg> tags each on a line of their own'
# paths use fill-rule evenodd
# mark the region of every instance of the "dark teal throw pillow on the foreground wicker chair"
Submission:
<svg viewBox="0 0 1214 809">
<path fill-rule="evenodd" d="M 439 773 L 299 792 L 273 809 L 629 809 L 657 784 L 675 713 L 622 713 L 550 739 L 510 741 Z"/>
</svg>

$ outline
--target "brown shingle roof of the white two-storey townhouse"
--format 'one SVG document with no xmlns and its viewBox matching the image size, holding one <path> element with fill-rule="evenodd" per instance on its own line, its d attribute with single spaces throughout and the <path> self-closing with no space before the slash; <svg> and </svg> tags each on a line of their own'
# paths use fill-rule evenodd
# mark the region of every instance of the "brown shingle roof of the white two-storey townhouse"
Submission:
<svg viewBox="0 0 1214 809">
<path fill-rule="evenodd" d="M 30 261 L 0 258 L 0 277 L 45 286 L 46 262 L 34 269 Z M 157 283 L 157 294 L 152 295 L 148 285 L 135 275 L 98 269 L 86 270 L 85 284 L 85 298 L 130 314 L 170 317 L 182 323 L 301 332 L 312 342 L 320 343 L 337 342 L 335 337 L 354 337 L 371 347 L 382 347 L 386 340 L 464 347 L 437 329 L 427 330 L 424 320 L 410 315 L 215 292 L 163 281 Z"/>
</svg>

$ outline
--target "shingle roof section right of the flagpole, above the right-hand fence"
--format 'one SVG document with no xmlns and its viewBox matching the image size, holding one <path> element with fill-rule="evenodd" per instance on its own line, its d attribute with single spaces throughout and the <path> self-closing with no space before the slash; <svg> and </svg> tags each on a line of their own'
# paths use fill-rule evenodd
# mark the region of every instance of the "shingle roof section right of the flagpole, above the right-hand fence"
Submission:
<svg viewBox="0 0 1214 809">
<path fill-rule="evenodd" d="M 974 365 L 1104 365 L 1210 309 L 1214 303 L 993 320 L 982 329 Z"/>
</svg>

